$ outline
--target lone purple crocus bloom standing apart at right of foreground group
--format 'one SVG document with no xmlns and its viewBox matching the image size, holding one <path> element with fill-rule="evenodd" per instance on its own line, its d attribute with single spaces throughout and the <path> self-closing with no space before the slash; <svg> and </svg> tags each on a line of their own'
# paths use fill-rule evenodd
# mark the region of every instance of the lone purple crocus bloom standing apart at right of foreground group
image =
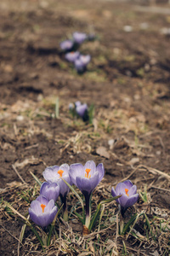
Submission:
<svg viewBox="0 0 170 256">
<path fill-rule="evenodd" d="M 126 212 L 128 207 L 132 207 L 135 202 L 139 199 L 139 194 L 137 194 L 137 187 L 133 185 L 130 180 L 126 180 L 123 183 L 118 183 L 116 189 L 112 187 L 111 195 L 115 197 L 116 195 L 122 195 L 116 201 L 121 206 L 122 216 Z"/>
</svg>

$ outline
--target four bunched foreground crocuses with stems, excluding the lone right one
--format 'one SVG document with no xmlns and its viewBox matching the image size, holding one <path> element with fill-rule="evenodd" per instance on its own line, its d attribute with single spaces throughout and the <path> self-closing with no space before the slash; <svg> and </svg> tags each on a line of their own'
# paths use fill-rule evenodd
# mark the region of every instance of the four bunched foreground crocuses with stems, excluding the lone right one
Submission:
<svg viewBox="0 0 170 256">
<path fill-rule="evenodd" d="M 42 172 L 47 182 L 42 183 L 40 195 L 31 202 L 29 213 L 31 220 L 36 224 L 45 227 L 51 224 L 58 209 L 54 206 L 55 201 L 60 196 L 63 203 L 64 218 L 68 218 L 66 207 L 66 195 L 70 186 L 75 184 L 82 191 L 86 201 L 86 225 L 88 227 L 91 216 L 91 195 L 95 187 L 104 177 L 104 166 L 95 166 L 93 160 L 89 160 L 85 166 L 82 164 L 67 164 L 61 166 L 49 166 Z"/>
</svg>

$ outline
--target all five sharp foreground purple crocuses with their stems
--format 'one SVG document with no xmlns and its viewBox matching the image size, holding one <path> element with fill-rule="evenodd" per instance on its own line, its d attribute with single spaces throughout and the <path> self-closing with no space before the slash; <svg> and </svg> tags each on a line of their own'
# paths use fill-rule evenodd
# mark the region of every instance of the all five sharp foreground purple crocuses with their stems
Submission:
<svg viewBox="0 0 170 256">
<path fill-rule="evenodd" d="M 63 164 L 61 166 L 47 167 L 45 171 L 42 172 L 46 182 L 42 183 L 40 195 L 35 201 L 31 202 L 31 207 L 29 208 L 31 220 L 42 227 L 51 224 L 55 219 L 55 216 L 57 216 L 58 209 L 55 206 L 55 202 L 59 196 L 63 204 L 64 219 L 68 220 L 66 196 L 71 189 L 82 204 L 82 216 L 78 214 L 77 217 L 80 218 L 86 229 L 90 231 L 99 213 L 97 210 L 96 215 L 94 213 L 93 218 L 91 218 L 92 193 L 104 177 L 104 174 L 105 169 L 103 164 L 100 163 L 96 166 L 93 160 L 88 160 L 84 166 L 80 163 L 76 163 L 71 166 Z M 77 188 L 81 190 L 82 195 L 84 195 L 86 211 L 84 211 L 81 197 L 77 194 L 76 190 L 71 187 L 72 184 L 77 186 Z M 113 196 L 113 199 L 102 201 L 100 202 L 100 205 L 101 203 L 116 200 L 120 205 L 122 218 L 127 207 L 132 207 L 139 198 L 137 187 L 129 180 L 123 183 L 118 183 L 116 189 L 111 189 L 111 195 Z"/>
</svg>

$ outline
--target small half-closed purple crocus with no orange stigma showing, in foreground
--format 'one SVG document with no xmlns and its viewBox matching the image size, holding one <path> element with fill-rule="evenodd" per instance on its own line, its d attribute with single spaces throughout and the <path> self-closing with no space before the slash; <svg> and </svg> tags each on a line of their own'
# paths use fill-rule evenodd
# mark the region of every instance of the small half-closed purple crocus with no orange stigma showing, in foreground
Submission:
<svg viewBox="0 0 170 256">
<path fill-rule="evenodd" d="M 57 201 L 59 197 L 59 185 L 57 183 L 42 183 L 40 188 L 40 195 L 43 195 L 47 198 L 48 201 L 53 199 Z"/>
</svg>

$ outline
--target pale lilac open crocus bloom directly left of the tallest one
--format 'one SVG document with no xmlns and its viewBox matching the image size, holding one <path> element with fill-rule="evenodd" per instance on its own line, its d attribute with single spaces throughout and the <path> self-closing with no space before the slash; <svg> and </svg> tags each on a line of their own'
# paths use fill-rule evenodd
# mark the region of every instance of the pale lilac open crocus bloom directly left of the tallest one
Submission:
<svg viewBox="0 0 170 256">
<path fill-rule="evenodd" d="M 42 172 L 43 177 L 49 183 L 59 184 L 59 195 L 63 197 L 67 195 L 70 189 L 60 177 L 63 177 L 67 183 L 71 184 L 69 169 L 69 165 L 63 164 L 62 166 L 49 166 Z"/>
</svg>

